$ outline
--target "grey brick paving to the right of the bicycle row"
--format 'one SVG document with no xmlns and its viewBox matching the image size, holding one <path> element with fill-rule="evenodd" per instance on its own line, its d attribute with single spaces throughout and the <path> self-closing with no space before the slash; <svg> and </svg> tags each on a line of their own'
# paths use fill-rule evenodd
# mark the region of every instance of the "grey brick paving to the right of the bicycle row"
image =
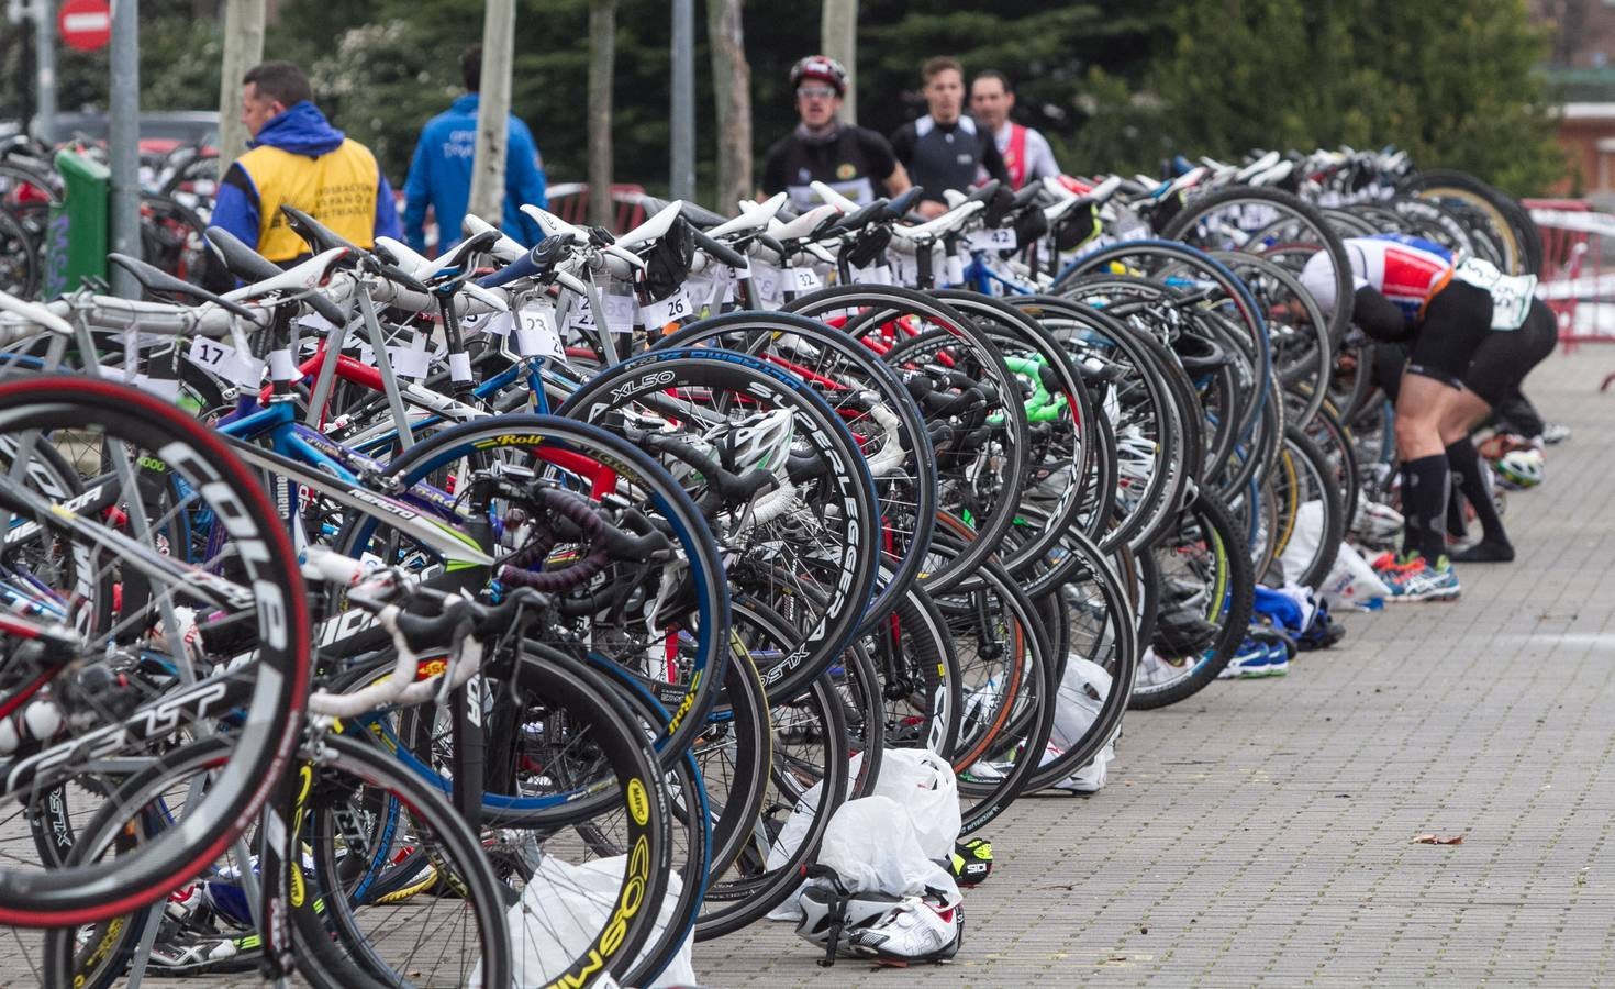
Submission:
<svg viewBox="0 0 1615 989">
<path fill-rule="evenodd" d="M 1340 616 L 1347 638 L 1284 679 L 1129 714 L 1103 792 L 993 823 L 996 871 L 967 894 L 953 965 L 822 970 L 762 924 L 696 945 L 701 981 L 1615 981 L 1612 368 L 1588 347 L 1531 378 L 1575 435 L 1542 488 L 1510 494 L 1515 564 L 1465 567 L 1455 604 Z M 1413 844 L 1426 832 L 1463 842 Z M 0 986 L 31 983 L 0 936 Z"/>
</svg>

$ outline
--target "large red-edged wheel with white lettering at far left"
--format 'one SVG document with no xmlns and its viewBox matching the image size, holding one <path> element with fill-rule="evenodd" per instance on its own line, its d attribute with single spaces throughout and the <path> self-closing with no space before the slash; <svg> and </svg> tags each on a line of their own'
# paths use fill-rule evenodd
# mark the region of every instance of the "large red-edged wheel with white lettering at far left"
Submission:
<svg viewBox="0 0 1615 989">
<path fill-rule="evenodd" d="M 57 541 L 34 562 L 6 553 L 3 564 L 13 574 L 27 567 L 34 614 L 55 621 L 66 650 L 55 659 L 48 650 L 18 656 L 5 705 L 52 705 L 60 724 L 5 760 L 8 795 L 26 811 L 34 795 L 68 781 L 110 792 L 116 777 L 95 782 L 90 753 L 139 761 L 216 726 L 229 726 L 233 742 L 231 772 L 195 808 L 197 824 L 166 831 L 136 855 L 45 871 L 6 853 L 0 923 L 89 923 L 166 895 L 216 858 L 263 803 L 305 705 L 307 601 L 257 480 L 215 433 L 171 406 L 107 381 L 32 378 L 0 385 L 0 436 L 18 451 L 0 478 L 8 541 L 26 543 L 29 532 Z M 94 451 L 94 461 L 69 459 L 92 475 L 73 507 L 23 475 L 31 451 L 58 436 Z M 181 642 L 187 627 L 197 630 L 191 651 Z M 86 669 L 65 677 L 71 656 Z M 228 672 L 197 679 L 213 669 Z"/>
</svg>

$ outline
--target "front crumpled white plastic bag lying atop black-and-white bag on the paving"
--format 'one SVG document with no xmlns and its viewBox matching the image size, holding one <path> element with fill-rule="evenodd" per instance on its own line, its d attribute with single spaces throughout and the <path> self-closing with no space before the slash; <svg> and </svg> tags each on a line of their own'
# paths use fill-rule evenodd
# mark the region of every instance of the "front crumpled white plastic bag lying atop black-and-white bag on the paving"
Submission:
<svg viewBox="0 0 1615 989">
<path fill-rule="evenodd" d="M 885 777 L 883 766 L 880 776 Z M 946 855 L 951 853 L 950 839 Z M 819 865 L 835 869 L 841 884 L 854 894 L 917 897 L 930 887 L 948 894 L 950 903 L 959 899 L 959 886 L 953 881 L 953 874 L 932 861 L 921 847 L 909 814 L 890 797 L 864 797 L 843 803 L 824 832 Z"/>
</svg>

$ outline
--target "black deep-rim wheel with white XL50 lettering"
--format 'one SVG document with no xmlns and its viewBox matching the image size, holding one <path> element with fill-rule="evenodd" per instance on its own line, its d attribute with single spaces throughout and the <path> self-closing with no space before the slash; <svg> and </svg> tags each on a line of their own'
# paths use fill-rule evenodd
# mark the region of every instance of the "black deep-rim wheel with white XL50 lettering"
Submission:
<svg viewBox="0 0 1615 989">
<path fill-rule="evenodd" d="M 795 601 L 803 632 L 761 671 L 770 695 L 790 697 L 846 648 L 875 588 L 879 507 L 853 435 L 801 381 L 740 354 L 651 351 L 559 414 L 654 448 L 707 509 L 733 593 Z M 772 490 L 732 491 L 720 470 Z"/>
</svg>

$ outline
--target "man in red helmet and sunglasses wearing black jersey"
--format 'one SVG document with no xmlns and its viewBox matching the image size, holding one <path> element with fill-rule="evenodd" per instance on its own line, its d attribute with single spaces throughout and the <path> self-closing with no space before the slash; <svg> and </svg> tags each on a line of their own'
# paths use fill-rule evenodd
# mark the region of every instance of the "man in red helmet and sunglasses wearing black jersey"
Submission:
<svg viewBox="0 0 1615 989">
<path fill-rule="evenodd" d="M 803 58 L 791 68 L 791 89 L 801 123 L 769 149 L 762 166 L 766 196 L 790 192 L 791 208 L 811 210 L 820 202 L 809 186 L 816 179 L 859 205 L 874 200 L 875 183 L 890 196 L 908 191 L 908 173 L 887 139 L 838 120 L 846 95 L 841 63 L 824 55 Z"/>
</svg>

